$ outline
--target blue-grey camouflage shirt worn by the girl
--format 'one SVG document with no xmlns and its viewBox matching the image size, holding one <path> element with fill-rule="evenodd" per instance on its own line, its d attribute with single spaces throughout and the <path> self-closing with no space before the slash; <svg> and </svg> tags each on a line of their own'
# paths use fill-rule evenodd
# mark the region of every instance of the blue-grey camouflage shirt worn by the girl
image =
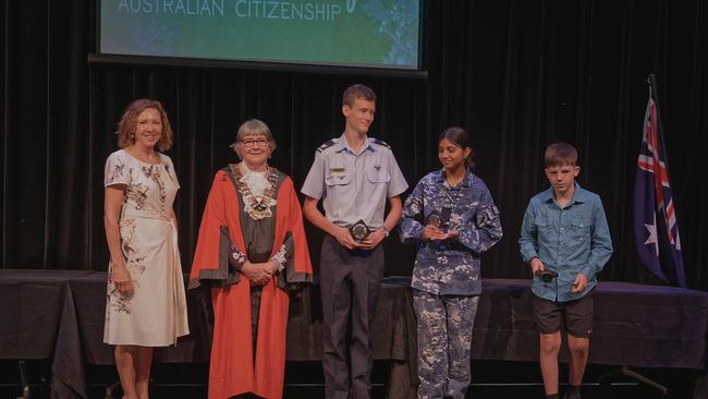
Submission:
<svg viewBox="0 0 708 399">
<path fill-rule="evenodd" d="M 441 228 L 457 230 L 460 235 L 445 241 L 423 240 L 432 213 L 449 214 Z M 481 179 L 467 171 L 451 188 L 441 169 L 420 179 L 406 198 L 399 235 L 403 243 L 418 244 L 411 287 L 438 295 L 474 295 L 481 293 L 479 256 L 501 240 L 502 231 L 499 210 Z"/>
</svg>

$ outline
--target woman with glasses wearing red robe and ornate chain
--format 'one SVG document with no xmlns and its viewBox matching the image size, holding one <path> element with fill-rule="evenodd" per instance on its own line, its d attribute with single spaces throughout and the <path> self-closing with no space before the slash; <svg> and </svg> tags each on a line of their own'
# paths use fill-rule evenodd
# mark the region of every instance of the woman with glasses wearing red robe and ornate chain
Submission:
<svg viewBox="0 0 708 399">
<path fill-rule="evenodd" d="M 190 289 L 211 288 L 215 326 L 209 398 L 281 398 L 289 290 L 313 269 L 293 181 L 268 166 L 268 126 L 244 122 L 242 159 L 218 171 L 207 200 Z"/>
</svg>

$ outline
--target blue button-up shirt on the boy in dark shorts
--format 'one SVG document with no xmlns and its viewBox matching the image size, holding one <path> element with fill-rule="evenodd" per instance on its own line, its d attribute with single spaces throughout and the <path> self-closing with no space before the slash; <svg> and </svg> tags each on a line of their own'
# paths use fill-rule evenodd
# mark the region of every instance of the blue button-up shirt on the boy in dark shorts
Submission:
<svg viewBox="0 0 708 399">
<path fill-rule="evenodd" d="M 521 228 L 521 255 L 525 263 L 538 257 L 547 270 L 558 273 L 550 282 L 534 276 L 537 297 L 567 302 L 585 297 L 597 286 L 596 273 L 612 255 L 612 239 L 600 197 L 575 183 L 571 202 L 561 208 L 550 188 L 528 202 Z M 587 288 L 572 293 L 577 274 L 587 277 Z"/>
</svg>

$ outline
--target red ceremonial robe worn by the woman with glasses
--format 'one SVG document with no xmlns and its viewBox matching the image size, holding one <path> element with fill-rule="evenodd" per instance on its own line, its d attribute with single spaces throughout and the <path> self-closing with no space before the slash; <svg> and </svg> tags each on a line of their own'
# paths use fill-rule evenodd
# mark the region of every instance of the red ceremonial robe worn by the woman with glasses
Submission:
<svg viewBox="0 0 708 399">
<path fill-rule="evenodd" d="M 225 255 L 231 243 L 242 254 L 247 252 L 240 223 L 240 194 L 224 170 L 217 172 L 209 192 L 190 276 L 190 288 L 199 283 L 216 287 L 211 289 L 215 326 L 209 399 L 245 392 L 281 398 L 289 295 L 278 288 L 276 276 L 263 287 L 254 362 L 251 285 L 245 276 L 239 276 L 239 273 L 234 276 Z M 302 209 L 289 177 L 284 177 L 276 200 L 276 238 L 270 256 L 285 240 L 292 240 L 292 253 L 286 255 L 289 262 L 281 274 L 285 275 L 283 278 L 289 283 L 309 282 L 313 269 Z"/>
</svg>

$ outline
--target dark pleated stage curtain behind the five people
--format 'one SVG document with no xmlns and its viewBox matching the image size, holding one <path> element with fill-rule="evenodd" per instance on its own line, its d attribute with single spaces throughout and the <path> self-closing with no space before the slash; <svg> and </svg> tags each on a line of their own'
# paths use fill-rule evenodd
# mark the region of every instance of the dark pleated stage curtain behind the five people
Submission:
<svg viewBox="0 0 708 399">
<path fill-rule="evenodd" d="M 300 186 L 315 148 L 343 129 L 341 93 L 378 95 L 373 135 L 387 141 L 413 186 L 437 168 L 437 135 L 474 136 L 477 172 L 496 198 L 504 239 L 485 277 L 529 277 L 516 240 L 528 198 L 547 186 L 541 154 L 563 140 L 579 150 L 579 183 L 602 197 L 614 255 L 601 278 L 657 283 L 638 264 L 632 193 L 648 98 L 658 80 L 689 287 L 708 290 L 708 4 L 693 1 L 428 0 L 427 80 L 257 70 L 88 64 L 94 2 L 3 0 L 3 268 L 103 270 L 102 174 L 117 122 L 136 97 L 167 107 L 182 190 L 175 210 L 185 270 L 213 173 L 234 160 L 237 125 L 260 118 L 276 167 Z M 355 48 L 352 51 L 356 51 Z M 317 259 L 321 234 L 308 226 Z M 408 275 L 415 249 L 386 243 L 387 274 Z"/>
</svg>

